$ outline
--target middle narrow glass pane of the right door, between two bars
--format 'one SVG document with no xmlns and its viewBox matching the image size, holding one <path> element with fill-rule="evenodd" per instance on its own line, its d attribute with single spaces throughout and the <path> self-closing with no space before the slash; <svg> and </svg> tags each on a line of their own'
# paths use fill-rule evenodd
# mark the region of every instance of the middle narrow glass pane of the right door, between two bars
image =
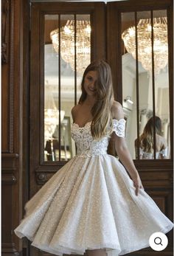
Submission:
<svg viewBox="0 0 174 256">
<path fill-rule="evenodd" d="M 150 11 L 137 13 L 139 58 L 139 159 L 153 159 L 153 134 L 144 131 L 147 120 L 153 117 L 152 29 Z M 136 155 L 136 159 L 138 156 Z"/>
</svg>

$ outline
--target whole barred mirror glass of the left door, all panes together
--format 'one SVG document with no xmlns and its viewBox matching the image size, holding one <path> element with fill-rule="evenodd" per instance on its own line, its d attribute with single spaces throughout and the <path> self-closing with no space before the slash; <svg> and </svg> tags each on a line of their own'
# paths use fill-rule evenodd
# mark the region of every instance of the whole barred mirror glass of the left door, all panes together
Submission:
<svg viewBox="0 0 174 256">
<path fill-rule="evenodd" d="M 91 61 L 90 15 L 45 15 L 44 31 L 44 160 L 68 161 L 76 154 L 71 109 Z"/>
</svg>

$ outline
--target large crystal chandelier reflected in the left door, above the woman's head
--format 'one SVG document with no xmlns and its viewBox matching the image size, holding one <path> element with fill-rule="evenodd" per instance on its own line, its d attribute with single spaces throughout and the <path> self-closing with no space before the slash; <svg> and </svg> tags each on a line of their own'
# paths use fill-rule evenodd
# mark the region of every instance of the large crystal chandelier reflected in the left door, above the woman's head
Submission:
<svg viewBox="0 0 174 256">
<path fill-rule="evenodd" d="M 82 74 L 86 66 L 91 62 L 91 26 L 90 21 L 68 20 L 64 27 L 60 28 L 60 55 L 73 70 L 76 46 L 77 72 Z M 76 40 L 74 37 L 76 35 Z M 59 52 L 59 29 L 50 33 L 55 52 Z"/>
</svg>

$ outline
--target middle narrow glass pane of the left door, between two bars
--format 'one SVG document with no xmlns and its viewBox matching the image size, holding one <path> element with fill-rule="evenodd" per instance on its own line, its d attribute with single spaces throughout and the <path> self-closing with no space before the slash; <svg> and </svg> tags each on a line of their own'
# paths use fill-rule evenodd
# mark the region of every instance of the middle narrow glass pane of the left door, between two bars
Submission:
<svg viewBox="0 0 174 256">
<path fill-rule="evenodd" d="M 63 118 L 60 125 L 59 149 L 55 151 L 57 161 L 72 158 L 71 109 L 74 105 L 74 15 L 60 15 L 60 110 Z"/>
</svg>

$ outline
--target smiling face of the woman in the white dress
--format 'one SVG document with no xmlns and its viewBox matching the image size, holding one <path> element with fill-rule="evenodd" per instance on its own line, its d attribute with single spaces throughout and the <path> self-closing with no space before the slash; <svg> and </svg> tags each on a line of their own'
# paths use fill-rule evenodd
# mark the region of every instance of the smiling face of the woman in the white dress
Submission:
<svg viewBox="0 0 174 256">
<path fill-rule="evenodd" d="M 86 90 L 86 93 L 88 95 L 94 95 L 97 91 L 95 82 L 97 81 L 98 75 L 97 71 L 89 71 L 86 74 L 85 80 L 84 80 L 84 89 Z"/>
</svg>

